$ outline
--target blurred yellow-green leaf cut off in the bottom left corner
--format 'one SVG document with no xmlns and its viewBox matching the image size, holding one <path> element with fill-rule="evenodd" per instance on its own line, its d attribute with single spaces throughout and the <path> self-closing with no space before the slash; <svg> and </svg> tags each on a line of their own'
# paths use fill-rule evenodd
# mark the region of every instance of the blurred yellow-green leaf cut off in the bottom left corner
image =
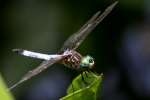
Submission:
<svg viewBox="0 0 150 100">
<path fill-rule="evenodd" d="M 0 75 L 0 100 L 14 100 Z"/>
</svg>

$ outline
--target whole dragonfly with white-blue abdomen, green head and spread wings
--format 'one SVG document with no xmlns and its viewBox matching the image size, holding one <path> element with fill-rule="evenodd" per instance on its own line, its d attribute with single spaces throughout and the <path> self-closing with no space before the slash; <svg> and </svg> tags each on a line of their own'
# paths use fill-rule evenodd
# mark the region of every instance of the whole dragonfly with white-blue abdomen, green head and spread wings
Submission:
<svg viewBox="0 0 150 100">
<path fill-rule="evenodd" d="M 118 1 L 108 6 L 102 14 L 98 11 L 94 14 L 77 32 L 71 35 L 63 44 L 61 49 L 56 54 L 42 54 L 33 51 L 23 49 L 13 49 L 17 54 L 44 60 L 38 67 L 28 71 L 20 81 L 12 85 L 9 90 L 12 90 L 21 83 L 31 79 L 33 76 L 46 70 L 48 67 L 55 63 L 61 63 L 65 66 L 77 70 L 87 71 L 94 67 L 94 58 L 87 55 L 82 56 L 76 49 L 85 40 L 85 38 L 91 33 L 91 31 L 113 10 Z"/>
</svg>

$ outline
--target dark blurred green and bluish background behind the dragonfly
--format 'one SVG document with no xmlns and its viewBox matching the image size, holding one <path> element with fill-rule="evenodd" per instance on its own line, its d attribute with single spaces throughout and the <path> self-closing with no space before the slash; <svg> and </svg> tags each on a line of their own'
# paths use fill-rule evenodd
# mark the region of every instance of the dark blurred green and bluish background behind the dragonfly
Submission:
<svg viewBox="0 0 150 100">
<path fill-rule="evenodd" d="M 57 53 L 94 13 L 114 0 L 1 0 L 0 73 L 8 86 L 41 60 L 13 53 L 23 48 Z M 104 73 L 103 100 L 150 99 L 150 1 L 119 0 L 78 51 L 95 58 Z M 15 88 L 16 100 L 58 100 L 79 73 L 55 64 Z"/>
</svg>

